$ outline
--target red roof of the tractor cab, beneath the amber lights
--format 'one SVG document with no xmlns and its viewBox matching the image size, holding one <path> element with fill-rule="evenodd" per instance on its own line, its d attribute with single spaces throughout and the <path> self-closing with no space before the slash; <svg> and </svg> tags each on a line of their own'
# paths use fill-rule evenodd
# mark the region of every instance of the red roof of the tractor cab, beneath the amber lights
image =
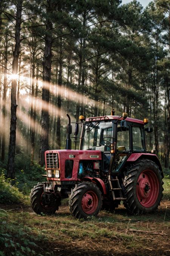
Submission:
<svg viewBox="0 0 170 256">
<path fill-rule="evenodd" d="M 117 120 L 118 118 L 120 118 L 120 116 L 96 116 L 96 117 L 86 118 L 85 121 L 90 122 L 90 121 L 102 121 L 102 120 Z M 123 120 L 123 117 L 120 118 L 120 120 Z M 125 120 L 132 122 L 132 123 L 144 125 L 144 121 L 139 120 L 139 119 L 127 117 Z"/>
</svg>

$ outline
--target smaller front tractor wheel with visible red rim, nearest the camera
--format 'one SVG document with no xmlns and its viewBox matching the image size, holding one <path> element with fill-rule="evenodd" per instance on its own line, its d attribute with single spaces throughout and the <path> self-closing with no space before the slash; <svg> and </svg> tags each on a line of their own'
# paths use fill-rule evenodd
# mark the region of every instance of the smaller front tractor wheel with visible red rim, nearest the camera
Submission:
<svg viewBox="0 0 170 256">
<path fill-rule="evenodd" d="M 102 194 L 96 184 L 83 182 L 71 192 L 70 213 L 76 218 L 97 216 L 102 206 Z"/>
</svg>

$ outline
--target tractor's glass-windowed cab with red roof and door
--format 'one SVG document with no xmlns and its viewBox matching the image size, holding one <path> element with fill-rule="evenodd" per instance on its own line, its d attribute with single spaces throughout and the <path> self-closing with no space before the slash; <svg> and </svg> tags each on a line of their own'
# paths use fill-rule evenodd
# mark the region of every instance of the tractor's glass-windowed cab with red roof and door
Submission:
<svg viewBox="0 0 170 256">
<path fill-rule="evenodd" d="M 80 149 L 101 151 L 103 171 L 109 170 L 111 156 L 115 154 L 111 172 L 119 172 L 131 153 L 146 152 L 146 123 L 146 120 L 143 122 L 126 115 L 87 118 L 82 129 Z"/>
</svg>

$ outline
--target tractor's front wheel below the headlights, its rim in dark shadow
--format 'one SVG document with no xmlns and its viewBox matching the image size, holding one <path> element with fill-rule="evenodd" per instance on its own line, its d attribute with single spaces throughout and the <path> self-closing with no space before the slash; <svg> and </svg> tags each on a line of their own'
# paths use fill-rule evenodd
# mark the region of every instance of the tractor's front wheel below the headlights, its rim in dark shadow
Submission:
<svg viewBox="0 0 170 256">
<path fill-rule="evenodd" d="M 30 193 L 31 206 L 36 214 L 54 214 L 59 210 L 61 198 L 53 194 L 46 194 L 43 190 L 44 182 L 38 183 Z"/>
</svg>

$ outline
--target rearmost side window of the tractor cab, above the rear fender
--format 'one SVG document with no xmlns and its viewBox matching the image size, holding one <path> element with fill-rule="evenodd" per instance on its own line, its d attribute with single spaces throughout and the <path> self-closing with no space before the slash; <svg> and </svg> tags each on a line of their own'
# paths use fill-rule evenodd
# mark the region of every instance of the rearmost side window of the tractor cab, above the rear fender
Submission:
<svg viewBox="0 0 170 256">
<path fill-rule="evenodd" d="M 144 151 L 144 130 L 142 127 L 133 126 L 133 151 Z"/>
</svg>

